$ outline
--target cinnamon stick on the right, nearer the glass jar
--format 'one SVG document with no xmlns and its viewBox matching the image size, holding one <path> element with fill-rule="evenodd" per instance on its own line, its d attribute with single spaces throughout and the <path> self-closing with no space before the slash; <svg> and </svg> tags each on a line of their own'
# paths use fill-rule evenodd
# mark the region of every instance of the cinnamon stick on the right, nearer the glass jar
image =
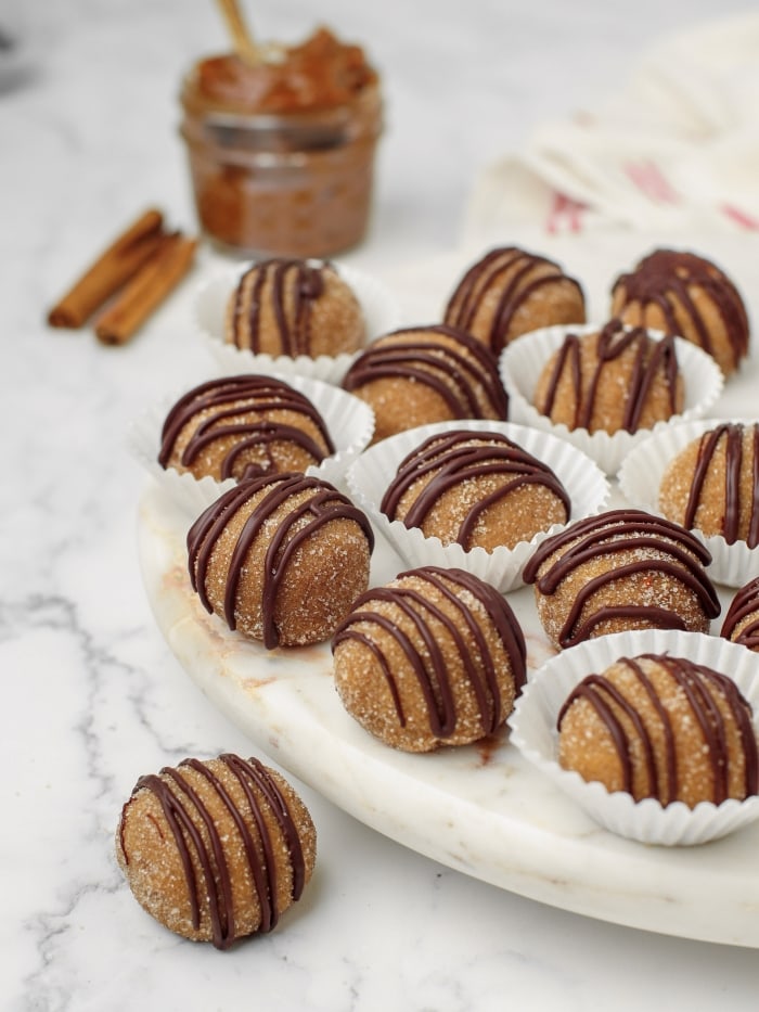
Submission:
<svg viewBox="0 0 759 1012">
<path fill-rule="evenodd" d="M 190 270 L 196 246 L 196 239 L 181 232 L 165 235 L 158 251 L 95 320 L 98 340 L 102 344 L 126 344 Z"/>
</svg>

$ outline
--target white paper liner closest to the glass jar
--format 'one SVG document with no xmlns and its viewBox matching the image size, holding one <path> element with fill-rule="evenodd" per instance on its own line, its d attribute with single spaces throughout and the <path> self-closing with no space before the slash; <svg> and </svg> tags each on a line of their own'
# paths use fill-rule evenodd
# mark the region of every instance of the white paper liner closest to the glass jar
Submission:
<svg viewBox="0 0 759 1012">
<path fill-rule="evenodd" d="M 339 276 L 353 290 L 366 321 L 365 344 L 395 330 L 400 323 L 398 304 L 389 290 L 376 278 L 352 267 L 332 262 Z M 227 373 L 273 371 L 282 375 L 301 375 L 325 383 L 339 384 L 358 351 L 342 355 L 255 355 L 224 341 L 227 303 L 241 274 L 249 265 L 219 272 L 202 282 L 195 294 L 194 317 L 201 336 L 219 367 Z"/>
</svg>

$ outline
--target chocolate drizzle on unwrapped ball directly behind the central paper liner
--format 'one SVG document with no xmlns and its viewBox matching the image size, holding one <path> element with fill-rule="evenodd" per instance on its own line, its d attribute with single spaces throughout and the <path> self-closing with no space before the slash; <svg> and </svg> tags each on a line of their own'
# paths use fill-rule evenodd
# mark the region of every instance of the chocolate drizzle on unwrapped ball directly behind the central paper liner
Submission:
<svg viewBox="0 0 759 1012">
<path fill-rule="evenodd" d="M 494 356 L 481 342 L 451 326 L 406 328 L 380 338 L 359 355 L 343 386 L 355 390 L 386 379 L 411 380 L 429 387 L 454 419 L 505 419 L 509 413 Z"/>
</svg>

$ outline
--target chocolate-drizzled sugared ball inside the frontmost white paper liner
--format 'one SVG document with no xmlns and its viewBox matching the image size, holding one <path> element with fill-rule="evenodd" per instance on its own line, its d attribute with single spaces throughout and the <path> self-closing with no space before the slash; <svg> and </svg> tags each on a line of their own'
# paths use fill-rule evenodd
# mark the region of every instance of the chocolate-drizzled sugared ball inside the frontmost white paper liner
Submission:
<svg viewBox="0 0 759 1012">
<path fill-rule="evenodd" d="M 621 657 L 558 715 L 558 761 L 636 802 L 719 805 L 757 793 L 750 704 L 726 675 L 684 657 Z"/>
</svg>

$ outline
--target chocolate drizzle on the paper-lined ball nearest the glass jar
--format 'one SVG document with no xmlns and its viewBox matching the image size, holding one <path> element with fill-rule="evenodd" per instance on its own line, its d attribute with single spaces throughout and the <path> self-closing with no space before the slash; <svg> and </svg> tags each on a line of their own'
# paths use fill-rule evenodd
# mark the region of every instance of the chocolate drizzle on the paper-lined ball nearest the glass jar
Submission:
<svg viewBox="0 0 759 1012">
<path fill-rule="evenodd" d="M 261 348 L 261 306 L 271 302 L 281 353 L 308 355 L 311 346 L 311 311 L 324 291 L 322 271 L 327 265 L 274 258 L 254 265 L 240 279 L 232 307 L 234 343 L 254 354 Z M 250 304 L 244 313 L 246 298 Z"/>
</svg>

